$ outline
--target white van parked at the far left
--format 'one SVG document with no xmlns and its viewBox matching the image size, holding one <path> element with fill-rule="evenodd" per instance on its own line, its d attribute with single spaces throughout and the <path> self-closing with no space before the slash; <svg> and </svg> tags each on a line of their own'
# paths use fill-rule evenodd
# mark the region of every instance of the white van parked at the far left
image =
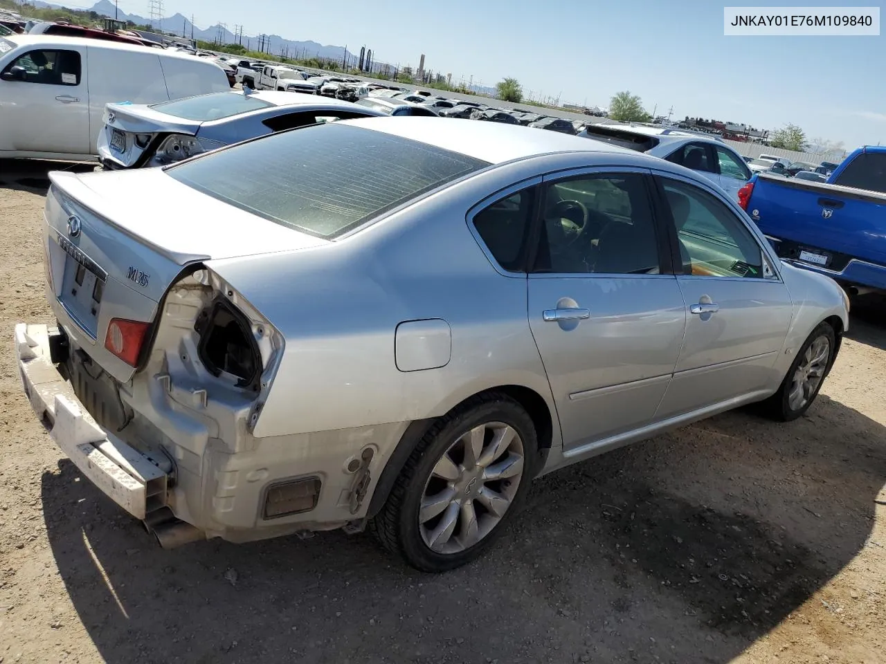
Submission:
<svg viewBox="0 0 886 664">
<path fill-rule="evenodd" d="M 229 89 L 220 66 L 184 53 L 83 37 L 0 37 L 0 158 L 89 159 L 105 104 Z"/>
</svg>

